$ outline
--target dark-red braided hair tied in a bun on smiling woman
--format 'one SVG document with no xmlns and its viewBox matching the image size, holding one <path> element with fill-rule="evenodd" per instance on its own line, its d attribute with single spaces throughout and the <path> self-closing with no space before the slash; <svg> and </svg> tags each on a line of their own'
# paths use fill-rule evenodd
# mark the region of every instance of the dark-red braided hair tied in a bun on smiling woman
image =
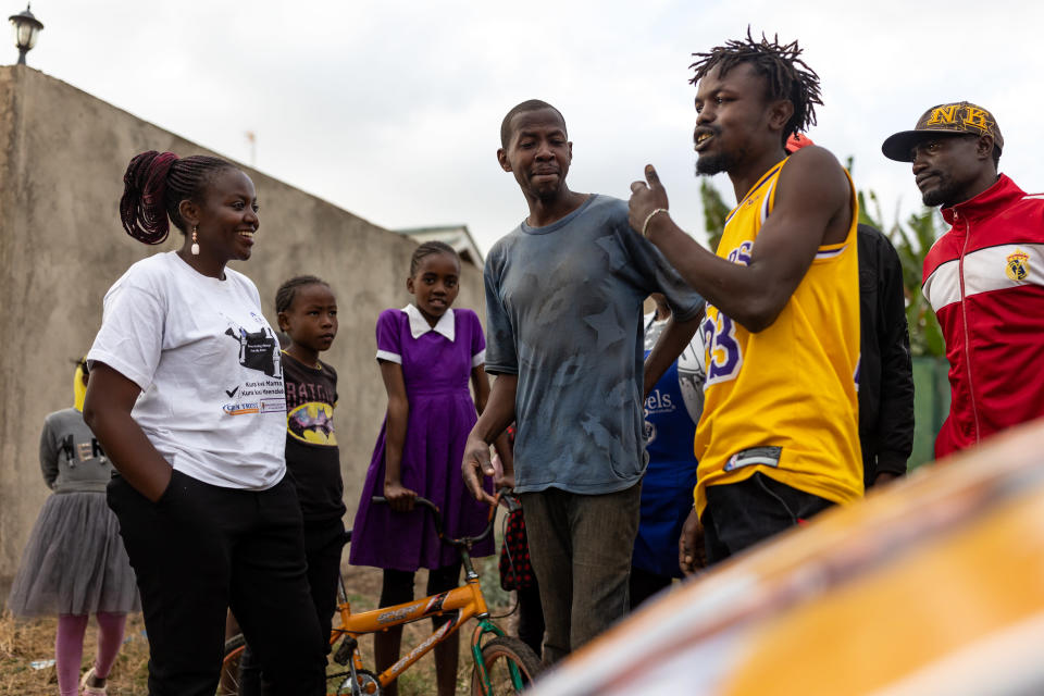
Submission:
<svg viewBox="0 0 1044 696">
<path fill-rule="evenodd" d="M 186 223 L 178 210 L 185 199 L 202 201 L 203 188 L 215 173 L 235 169 L 216 157 L 194 154 L 178 159 L 173 152 L 149 150 L 130 160 L 123 175 L 120 220 L 127 234 L 145 244 L 162 244 L 170 219 L 183 233 Z"/>
</svg>

